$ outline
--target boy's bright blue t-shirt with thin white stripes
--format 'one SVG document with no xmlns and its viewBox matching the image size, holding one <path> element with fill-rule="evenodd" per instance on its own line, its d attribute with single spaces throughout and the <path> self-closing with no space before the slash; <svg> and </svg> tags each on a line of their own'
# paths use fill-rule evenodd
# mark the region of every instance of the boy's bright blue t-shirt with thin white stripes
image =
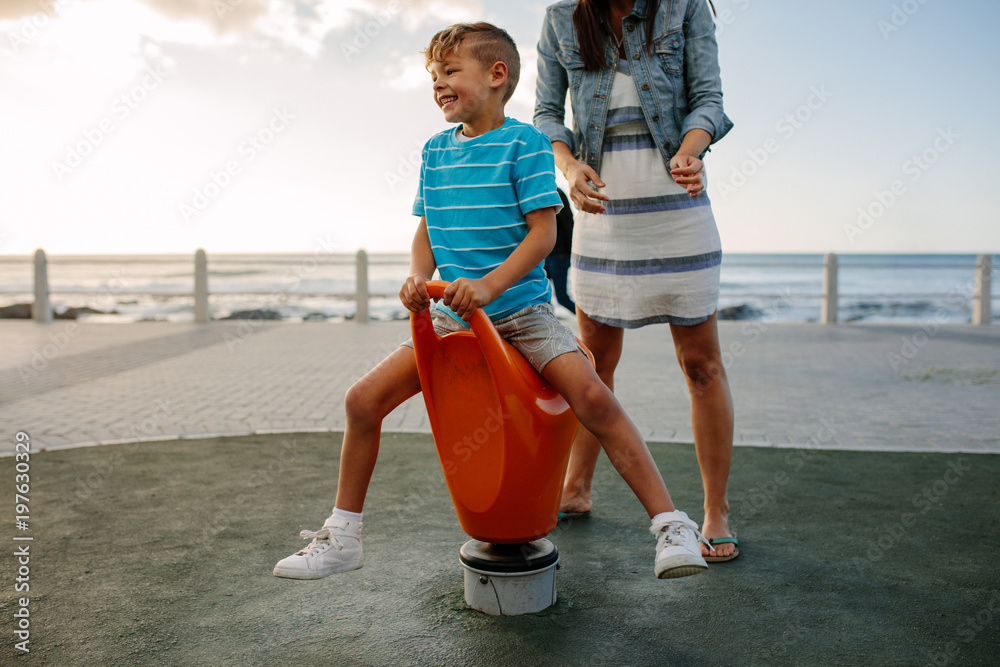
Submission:
<svg viewBox="0 0 1000 667">
<path fill-rule="evenodd" d="M 482 278 L 500 266 L 528 234 L 525 215 L 555 206 L 555 161 L 549 138 L 513 118 L 478 137 L 458 130 L 424 145 L 413 214 L 427 218 L 434 261 L 443 280 Z M 491 319 L 552 300 L 542 264 L 485 307 Z M 442 308 L 458 319 L 450 308 Z"/>
</svg>

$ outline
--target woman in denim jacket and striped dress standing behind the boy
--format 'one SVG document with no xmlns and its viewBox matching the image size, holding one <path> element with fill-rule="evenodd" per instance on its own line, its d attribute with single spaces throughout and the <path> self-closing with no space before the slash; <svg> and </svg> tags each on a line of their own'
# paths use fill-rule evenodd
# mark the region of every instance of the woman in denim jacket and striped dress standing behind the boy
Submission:
<svg viewBox="0 0 1000 667">
<path fill-rule="evenodd" d="M 566 93 L 574 131 L 564 124 Z M 579 209 L 570 277 L 580 336 L 614 388 L 624 329 L 668 323 L 691 394 L 706 560 L 739 553 L 726 486 L 733 405 L 719 349 L 719 233 L 701 158 L 732 127 L 706 0 L 568 0 L 538 44 L 535 125 Z M 561 509 L 587 516 L 600 454 L 573 444 Z"/>
</svg>

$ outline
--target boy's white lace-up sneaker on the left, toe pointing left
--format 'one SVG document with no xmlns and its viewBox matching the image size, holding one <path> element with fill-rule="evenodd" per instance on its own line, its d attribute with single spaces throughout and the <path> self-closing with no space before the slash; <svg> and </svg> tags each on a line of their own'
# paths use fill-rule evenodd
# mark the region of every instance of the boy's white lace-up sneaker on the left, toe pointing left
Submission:
<svg viewBox="0 0 1000 667">
<path fill-rule="evenodd" d="M 299 533 L 312 538 L 302 551 L 283 558 L 274 566 L 274 576 L 289 579 L 322 579 L 337 572 L 357 570 L 365 564 L 361 551 L 361 524 L 342 516 L 330 516 L 320 530 Z"/>
</svg>

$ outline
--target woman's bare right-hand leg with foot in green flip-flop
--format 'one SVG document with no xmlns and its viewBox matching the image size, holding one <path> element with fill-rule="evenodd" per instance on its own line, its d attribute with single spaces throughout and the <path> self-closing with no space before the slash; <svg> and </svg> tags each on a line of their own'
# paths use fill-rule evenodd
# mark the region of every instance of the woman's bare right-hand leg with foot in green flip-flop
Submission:
<svg viewBox="0 0 1000 667">
<path fill-rule="evenodd" d="M 695 452 L 705 487 L 705 522 L 701 532 L 708 539 L 729 537 L 727 485 L 733 460 L 733 399 L 722 365 L 716 316 L 693 327 L 671 325 L 677 361 L 691 393 L 691 428 Z M 735 545 L 722 543 L 714 556 L 729 556 Z M 708 547 L 701 547 L 708 555 Z"/>
</svg>

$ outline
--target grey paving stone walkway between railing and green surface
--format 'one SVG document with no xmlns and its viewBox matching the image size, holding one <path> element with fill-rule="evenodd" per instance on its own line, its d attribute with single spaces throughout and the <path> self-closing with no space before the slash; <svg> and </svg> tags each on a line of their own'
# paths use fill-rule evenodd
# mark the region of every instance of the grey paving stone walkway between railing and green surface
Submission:
<svg viewBox="0 0 1000 667">
<path fill-rule="evenodd" d="M 407 322 L 0 322 L 0 424 L 36 447 L 344 428 L 347 388 Z M 739 445 L 1000 452 L 1000 327 L 720 323 Z M 629 331 L 620 400 L 693 442 L 669 330 Z M 386 431 L 429 432 L 415 397 Z M 0 454 L 13 439 L 4 438 Z"/>
</svg>

